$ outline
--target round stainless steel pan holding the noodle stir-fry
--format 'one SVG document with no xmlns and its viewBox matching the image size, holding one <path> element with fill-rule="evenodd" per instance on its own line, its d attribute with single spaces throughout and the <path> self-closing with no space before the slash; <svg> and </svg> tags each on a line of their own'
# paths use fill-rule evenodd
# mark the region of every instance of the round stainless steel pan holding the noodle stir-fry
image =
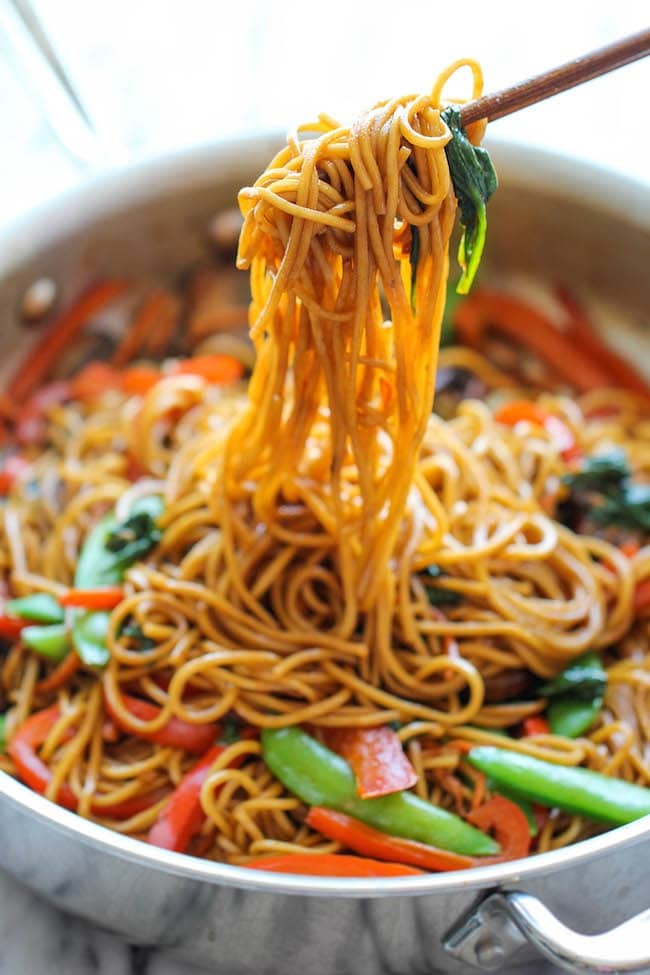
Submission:
<svg viewBox="0 0 650 975">
<path fill-rule="evenodd" d="M 131 167 L 0 231 L 0 368 L 30 341 L 17 309 L 35 279 L 54 278 L 65 301 L 102 274 L 177 274 L 205 254 L 208 218 L 232 205 L 276 144 L 224 143 Z M 491 205 L 493 268 L 600 297 L 612 322 L 632 323 L 613 337 L 638 359 L 635 323 L 650 308 L 648 188 L 492 148 L 502 181 Z M 258 875 L 108 832 L 0 773 L 1 866 L 61 908 L 223 975 L 468 973 L 532 957 L 532 946 L 575 972 L 650 971 L 649 859 L 650 820 L 457 875 Z"/>
</svg>

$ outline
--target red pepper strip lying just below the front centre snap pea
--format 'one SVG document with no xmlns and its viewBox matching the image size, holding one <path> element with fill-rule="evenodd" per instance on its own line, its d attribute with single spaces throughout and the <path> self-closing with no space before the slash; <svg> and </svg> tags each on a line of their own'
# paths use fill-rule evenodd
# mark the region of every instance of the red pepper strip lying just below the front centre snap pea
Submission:
<svg viewBox="0 0 650 975">
<path fill-rule="evenodd" d="M 440 850 L 415 840 L 404 840 L 399 836 L 389 836 L 372 826 L 366 826 L 359 819 L 333 809 L 313 806 L 306 822 L 328 839 L 375 860 L 407 863 L 422 870 L 467 870 L 478 862 L 475 857 L 450 853 L 448 850 Z"/>
</svg>

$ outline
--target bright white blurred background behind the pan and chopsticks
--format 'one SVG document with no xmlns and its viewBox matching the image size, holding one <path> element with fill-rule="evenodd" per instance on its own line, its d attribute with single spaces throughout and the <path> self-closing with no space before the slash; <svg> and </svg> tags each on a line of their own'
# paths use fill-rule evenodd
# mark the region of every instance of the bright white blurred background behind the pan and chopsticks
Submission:
<svg viewBox="0 0 650 975">
<path fill-rule="evenodd" d="M 286 129 L 322 110 L 346 118 L 426 90 L 463 55 L 482 61 L 494 90 L 650 22 L 647 0 L 33 2 L 110 145 L 100 165 Z M 0 18 L 0 219 L 83 177 L 30 97 L 2 28 Z M 495 132 L 650 181 L 649 93 L 646 61 L 499 121 Z"/>
</svg>

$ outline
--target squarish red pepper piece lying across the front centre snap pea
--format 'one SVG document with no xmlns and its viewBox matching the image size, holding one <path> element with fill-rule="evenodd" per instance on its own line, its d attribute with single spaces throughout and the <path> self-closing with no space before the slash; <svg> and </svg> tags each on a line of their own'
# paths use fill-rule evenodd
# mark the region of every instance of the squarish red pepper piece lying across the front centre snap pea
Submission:
<svg viewBox="0 0 650 975">
<path fill-rule="evenodd" d="M 380 728 L 330 728 L 325 743 L 344 758 L 362 799 L 387 796 L 411 789 L 417 775 L 404 754 L 402 743 L 388 725 Z"/>
</svg>

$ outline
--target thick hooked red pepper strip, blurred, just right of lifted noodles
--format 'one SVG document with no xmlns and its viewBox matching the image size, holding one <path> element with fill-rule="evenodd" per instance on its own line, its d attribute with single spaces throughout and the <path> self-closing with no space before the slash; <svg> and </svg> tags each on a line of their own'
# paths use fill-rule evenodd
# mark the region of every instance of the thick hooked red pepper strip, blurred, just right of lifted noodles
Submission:
<svg viewBox="0 0 650 975">
<path fill-rule="evenodd" d="M 454 325 L 466 345 L 480 348 L 484 333 L 494 327 L 547 362 L 565 381 L 582 393 L 611 385 L 611 375 L 560 329 L 512 295 L 485 289 L 461 301 Z"/>
</svg>

